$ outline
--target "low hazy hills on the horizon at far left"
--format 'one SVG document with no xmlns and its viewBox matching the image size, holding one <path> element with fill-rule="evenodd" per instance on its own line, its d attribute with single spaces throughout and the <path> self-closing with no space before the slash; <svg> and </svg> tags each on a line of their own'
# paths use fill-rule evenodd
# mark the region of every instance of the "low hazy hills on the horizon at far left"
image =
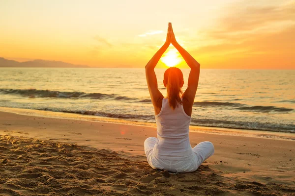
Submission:
<svg viewBox="0 0 295 196">
<path fill-rule="evenodd" d="M 18 62 L 2 57 L 0 57 L 0 67 L 89 68 L 87 65 L 74 65 L 62 61 L 46 61 L 36 59 L 33 61 Z"/>
</svg>

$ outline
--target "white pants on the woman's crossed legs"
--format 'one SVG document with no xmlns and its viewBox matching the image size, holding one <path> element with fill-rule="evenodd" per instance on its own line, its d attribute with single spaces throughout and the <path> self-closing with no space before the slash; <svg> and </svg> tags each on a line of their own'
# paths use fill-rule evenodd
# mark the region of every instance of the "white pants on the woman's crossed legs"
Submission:
<svg viewBox="0 0 295 196">
<path fill-rule="evenodd" d="M 167 170 L 169 172 L 194 172 L 210 156 L 214 154 L 214 146 L 211 142 L 201 142 L 193 149 L 192 158 L 189 160 L 175 161 L 160 159 L 154 156 L 153 147 L 157 138 L 149 137 L 145 141 L 145 153 L 148 164 L 153 169 Z"/>
</svg>

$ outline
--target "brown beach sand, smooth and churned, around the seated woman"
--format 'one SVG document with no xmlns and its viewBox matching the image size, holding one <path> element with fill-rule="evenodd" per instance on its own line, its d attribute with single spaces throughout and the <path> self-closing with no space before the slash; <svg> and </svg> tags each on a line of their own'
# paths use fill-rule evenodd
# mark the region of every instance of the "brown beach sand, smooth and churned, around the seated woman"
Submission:
<svg viewBox="0 0 295 196">
<path fill-rule="evenodd" d="M 295 196 L 293 136 L 213 130 L 190 141 L 211 141 L 215 154 L 196 172 L 173 174 L 146 161 L 155 127 L 0 112 L 0 195 Z"/>
</svg>

